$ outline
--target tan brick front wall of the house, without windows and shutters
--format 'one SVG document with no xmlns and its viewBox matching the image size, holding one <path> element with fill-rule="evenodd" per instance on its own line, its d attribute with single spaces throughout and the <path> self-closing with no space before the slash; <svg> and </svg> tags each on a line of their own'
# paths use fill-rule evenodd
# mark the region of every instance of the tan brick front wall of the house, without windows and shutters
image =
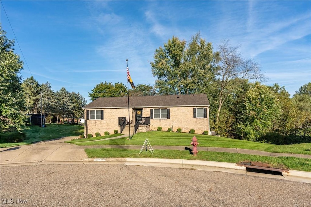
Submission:
<svg viewBox="0 0 311 207">
<path fill-rule="evenodd" d="M 151 119 L 150 126 L 146 127 L 146 129 L 141 127 L 139 132 L 157 130 L 158 127 L 162 127 L 162 131 L 167 131 L 167 129 L 172 126 L 173 131 L 177 131 L 178 128 L 181 128 L 182 132 L 189 132 L 190 129 L 194 129 L 196 134 L 202 134 L 203 131 L 208 131 L 209 108 L 207 106 L 198 107 L 207 108 L 207 118 L 193 118 L 193 108 L 195 107 L 169 107 L 170 119 Z M 149 117 L 150 109 L 156 108 L 143 108 L 142 117 Z M 100 108 L 97 110 L 100 110 Z M 110 134 L 114 134 L 115 129 L 120 132 L 120 127 L 118 126 L 118 117 L 126 117 L 126 120 L 132 120 L 133 125 L 135 124 L 135 109 L 130 108 L 130 119 L 128 119 L 127 108 L 108 108 L 101 110 L 104 110 L 103 120 L 85 119 L 85 137 L 87 137 L 87 134 L 92 134 L 95 136 L 96 132 L 99 132 L 100 135 L 103 136 L 105 131 L 109 131 Z M 87 117 L 86 110 L 84 110 L 84 115 Z"/>
</svg>

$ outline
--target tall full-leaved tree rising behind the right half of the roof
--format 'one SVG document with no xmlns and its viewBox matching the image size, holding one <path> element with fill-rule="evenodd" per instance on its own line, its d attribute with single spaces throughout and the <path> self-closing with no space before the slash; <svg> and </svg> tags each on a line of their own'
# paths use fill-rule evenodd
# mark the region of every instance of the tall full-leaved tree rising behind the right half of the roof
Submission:
<svg viewBox="0 0 311 207">
<path fill-rule="evenodd" d="M 195 34 L 188 42 L 172 37 L 156 49 L 151 62 L 159 94 L 206 93 L 214 79 L 215 54 L 211 43 Z"/>
</svg>

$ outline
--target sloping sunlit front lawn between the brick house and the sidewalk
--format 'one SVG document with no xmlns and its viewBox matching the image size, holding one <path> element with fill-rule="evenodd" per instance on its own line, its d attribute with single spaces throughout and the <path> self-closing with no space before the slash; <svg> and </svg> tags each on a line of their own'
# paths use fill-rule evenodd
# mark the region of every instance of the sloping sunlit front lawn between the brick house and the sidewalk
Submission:
<svg viewBox="0 0 311 207">
<path fill-rule="evenodd" d="M 246 140 L 236 140 L 225 137 L 195 135 L 198 139 L 200 147 L 226 147 L 240 148 L 248 150 L 259 150 L 275 153 L 292 153 L 292 154 L 311 154 L 306 151 L 311 143 L 302 143 L 294 145 L 272 145 L 267 143 L 252 142 Z M 188 133 L 165 132 L 165 131 L 148 131 L 137 133 L 131 140 L 120 138 L 115 140 L 102 140 L 94 142 L 77 143 L 77 145 L 143 145 L 147 138 L 151 145 L 166 146 L 189 146 L 193 135 Z"/>
</svg>

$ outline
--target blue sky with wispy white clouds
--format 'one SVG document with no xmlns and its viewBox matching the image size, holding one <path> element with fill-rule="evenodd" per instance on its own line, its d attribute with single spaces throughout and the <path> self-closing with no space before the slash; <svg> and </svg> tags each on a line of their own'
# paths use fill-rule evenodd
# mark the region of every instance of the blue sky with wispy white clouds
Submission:
<svg viewBox="0 0 311 207">
<path fill-rule="evenodd" d="M 82 94 L 100 82 L 153 85 L 156 48 L 197 32 L 240 45 L 269 79 L 293 95 L 311 81 L 311 1 L 1 1 L 24 61 L 24 79 Z M 14 34 L 1 5 L 2 29 Z"/>
</svg>

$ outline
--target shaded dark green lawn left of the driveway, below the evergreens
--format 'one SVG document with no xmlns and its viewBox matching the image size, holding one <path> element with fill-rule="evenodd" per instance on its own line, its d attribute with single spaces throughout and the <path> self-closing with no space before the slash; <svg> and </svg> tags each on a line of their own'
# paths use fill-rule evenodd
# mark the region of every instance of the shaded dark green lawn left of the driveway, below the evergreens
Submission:
<svg viewBox="0 0 311 207">
<path fill-rule="evenodd" d="M 24 133 L 26 136 L 24 141 L 17 143 L 9 143 L 6 139 L 5 133 L 2 133 L 0 147 L 28 145 L 38 141 L 57 139 L 66 136 L 78 136 L 84 133 L 84 127 L 69 124 L 46 124 L 46 127 L 44 128 L 31 126 L 30 129 L 24 130 Z"/>
</svg>

